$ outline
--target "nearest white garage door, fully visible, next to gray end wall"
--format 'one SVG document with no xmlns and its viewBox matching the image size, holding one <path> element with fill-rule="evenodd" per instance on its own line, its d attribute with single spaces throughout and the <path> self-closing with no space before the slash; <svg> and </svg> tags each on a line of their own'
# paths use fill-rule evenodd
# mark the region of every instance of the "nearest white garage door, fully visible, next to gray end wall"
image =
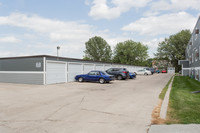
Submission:
<svg viewBox="0 0 200 133">
<path fill-rule="evenodd" d="M 66 64 L 62 62 L 47 62 L 46 84 L 66 82 Z"/>
</svg>

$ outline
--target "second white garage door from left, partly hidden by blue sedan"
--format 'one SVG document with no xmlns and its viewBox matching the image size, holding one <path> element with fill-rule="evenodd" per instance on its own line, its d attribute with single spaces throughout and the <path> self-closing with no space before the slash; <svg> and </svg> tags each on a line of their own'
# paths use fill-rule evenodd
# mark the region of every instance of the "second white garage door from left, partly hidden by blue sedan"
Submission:
<svg viewBox="0 0 200 133">
<path fill-rule="evenodd" d="M 68 82 L 74 81 L 77 74 L 83 73 L 83 66 L 81 63 L 69 63 L 68 64 Z"/>
</svg>

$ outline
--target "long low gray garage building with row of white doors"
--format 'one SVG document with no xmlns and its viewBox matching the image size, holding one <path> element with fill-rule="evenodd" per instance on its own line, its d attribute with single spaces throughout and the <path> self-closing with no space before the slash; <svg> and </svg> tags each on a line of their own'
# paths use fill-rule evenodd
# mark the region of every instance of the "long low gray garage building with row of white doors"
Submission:
<svg viewBox="0 0 200 133">
<path fill-rule="evenodd" d="M 0 58 L 0 82 L 21 84 L 55 84 L 74 81 L 77 74 L 91 70 L 107 70 L 111 67 L 127 68 L 130 72 L 143 69 L 106 62 L 49 55 Z"/>
</svg>

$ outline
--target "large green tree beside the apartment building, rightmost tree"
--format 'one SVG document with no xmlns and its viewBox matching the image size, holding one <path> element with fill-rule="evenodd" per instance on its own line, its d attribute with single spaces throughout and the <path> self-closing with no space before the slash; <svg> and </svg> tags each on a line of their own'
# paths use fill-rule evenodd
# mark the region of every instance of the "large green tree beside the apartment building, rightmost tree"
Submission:
<svg viewBox="0 0 200 133">
<path fill-rule="evenodd" d="M 159 43 L 155 56 L 159 59 L 170 60 L 176 71 L 179 71 L 178 60 L 185 59 L 185 50 L 190 37 L 190 30 L 182 30 L 169 38 L 165 38 L 164 41 Z"/>
</svg>

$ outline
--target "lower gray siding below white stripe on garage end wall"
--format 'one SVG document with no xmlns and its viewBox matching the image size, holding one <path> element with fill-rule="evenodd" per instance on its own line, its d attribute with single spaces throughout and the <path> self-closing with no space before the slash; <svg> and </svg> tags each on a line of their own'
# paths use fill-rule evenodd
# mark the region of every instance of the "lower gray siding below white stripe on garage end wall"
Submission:
<svg viewBox="0 0 200 133">
<path fill-rule="evenodd" d="M 43 84 L 42 73 L 0 73 L 0 82 L 20 84 Z"/>
</svg>

